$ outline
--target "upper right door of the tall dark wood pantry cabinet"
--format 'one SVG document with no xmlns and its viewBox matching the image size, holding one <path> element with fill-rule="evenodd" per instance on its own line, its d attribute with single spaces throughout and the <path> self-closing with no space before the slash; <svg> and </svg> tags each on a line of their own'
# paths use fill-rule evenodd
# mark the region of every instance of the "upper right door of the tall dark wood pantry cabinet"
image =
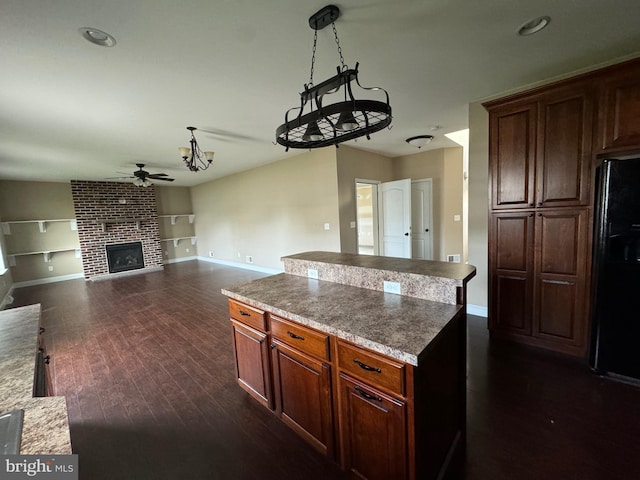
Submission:
<svg viewBox="0 0 640 480">
<path fill-rule="evenodd" d="M 537 206 L 589 204 L 594 98 L 591 87 L 580 85 L 541 97 Z"/>
</svg>

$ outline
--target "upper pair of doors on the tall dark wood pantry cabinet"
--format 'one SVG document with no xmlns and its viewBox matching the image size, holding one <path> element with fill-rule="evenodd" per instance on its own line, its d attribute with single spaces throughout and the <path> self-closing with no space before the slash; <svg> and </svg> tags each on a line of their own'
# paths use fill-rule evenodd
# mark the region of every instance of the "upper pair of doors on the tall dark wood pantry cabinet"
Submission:
<svg viewBox="0 0 640 480">
<path fill-rule="evenodd" d="M 594 88 L 490 105 L 493 209 L 588 205 Z"/>
</svg>

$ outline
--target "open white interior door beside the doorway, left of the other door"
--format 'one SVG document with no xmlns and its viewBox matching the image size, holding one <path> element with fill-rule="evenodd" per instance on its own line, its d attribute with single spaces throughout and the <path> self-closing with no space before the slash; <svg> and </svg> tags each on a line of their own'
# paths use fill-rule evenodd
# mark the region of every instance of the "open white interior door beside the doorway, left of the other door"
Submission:
<svg viewBox="0 0 640 480">
<path fill-rule="evenodd" d="M 411 258 L 411 179 L 381 183 L 381 255 Z"/>
</svg>

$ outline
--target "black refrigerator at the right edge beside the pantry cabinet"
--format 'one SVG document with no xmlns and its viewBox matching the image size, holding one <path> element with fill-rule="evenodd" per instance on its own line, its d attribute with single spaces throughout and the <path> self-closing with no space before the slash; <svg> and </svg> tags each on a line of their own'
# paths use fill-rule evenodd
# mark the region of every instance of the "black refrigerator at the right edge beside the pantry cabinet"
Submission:
<svg viewBox="0 0 640 480">
<path fill-rule="evenodd" d="M 594 372 L 640 382 L 640 158 L 597 169 L 593 256 Z"/>
</svg>

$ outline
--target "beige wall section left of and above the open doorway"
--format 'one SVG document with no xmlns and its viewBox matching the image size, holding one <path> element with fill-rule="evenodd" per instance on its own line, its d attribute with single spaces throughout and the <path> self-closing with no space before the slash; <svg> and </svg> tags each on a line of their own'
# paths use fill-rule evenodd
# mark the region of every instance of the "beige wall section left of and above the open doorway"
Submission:
<svg viewBox="0 0 640 480">
<path fill-rule="evenodd" d="M 356 179 L 389 182 L 393 180 L 393 161 L 376 153 L 346 145 L 336 149 L 338 164 L 338 202 L 340 208 L 340 249 L 358 253 L 358 231 L 351 228 L 356 221 Z"/>
</svg>

